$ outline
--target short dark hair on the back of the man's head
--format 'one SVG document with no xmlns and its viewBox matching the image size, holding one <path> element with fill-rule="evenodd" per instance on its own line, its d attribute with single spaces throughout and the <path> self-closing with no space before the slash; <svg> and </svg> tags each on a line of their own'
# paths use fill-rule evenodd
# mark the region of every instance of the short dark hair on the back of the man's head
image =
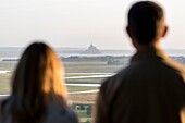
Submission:
<svg viewBox="0 0 185 123">
<path fill-rule="evenodd" d="M 158 37 L 163 10 L 151 1 L 135 3 L 128 12 L 128 27 L 137 41 L 148 45 Z"/>
</svg>

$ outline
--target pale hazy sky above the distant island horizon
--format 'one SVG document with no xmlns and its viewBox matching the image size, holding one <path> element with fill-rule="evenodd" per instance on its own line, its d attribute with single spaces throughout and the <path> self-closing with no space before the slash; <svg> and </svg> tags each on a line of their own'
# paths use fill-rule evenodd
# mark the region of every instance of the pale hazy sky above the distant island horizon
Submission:
<svg viewBox="0 0 185 123">
<path fill-rule="evenodd" d="M 124 32 L 137 0 L 0 0 L 0 47 L 45 39 L 53 47 L 132 49 Z M 160 1 L 166 13 L 165 49 L 185 49 L 185 0 Z"/>
</svg>

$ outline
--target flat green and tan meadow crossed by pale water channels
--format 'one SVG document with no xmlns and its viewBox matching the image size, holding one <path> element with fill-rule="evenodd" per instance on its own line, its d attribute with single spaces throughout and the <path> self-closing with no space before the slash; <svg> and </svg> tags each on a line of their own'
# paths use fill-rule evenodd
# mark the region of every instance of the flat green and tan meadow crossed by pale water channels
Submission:
<svg viewBox="0 0 185 123">
<path fill-rule="evenodd" d="M 11 71 L 8 73 L 0 73 L 0 95 L 9 95 L 11 89 L 11 76 L 16 66 L 16 61 L 0 61 L 0 71 Z M 103 75 L 109 73 L 116 73 L 120 71 L 123 65 L 108 65 L 107 62 L 64 62 L 65 76 L 91 76 L 91 75 Z M 92 78 L 67 78 L 65 79 L 66 84 L 101 84 L 106 78 L 104 77 L 92 77 Z M 85 91 L 85 90 L 95 90 L 99 87 L 87 87 L 87 86 L 67 86 L 67 91 Z M 74 104 L 92 104 L 95 103 L 97 93 L 90 94 L 73 94 L 69 95 L 69 101 L 71 106 Z M 76 110 L 81 123 L 90 123 L 91 115 L 87 115 L 87 110 Z"/>
</svg>

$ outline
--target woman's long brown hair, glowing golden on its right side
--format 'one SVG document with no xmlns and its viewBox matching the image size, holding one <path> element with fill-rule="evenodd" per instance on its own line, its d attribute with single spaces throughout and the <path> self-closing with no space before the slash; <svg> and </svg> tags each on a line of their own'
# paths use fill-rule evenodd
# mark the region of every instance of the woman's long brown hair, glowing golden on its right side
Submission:
<svg viewBox="0 0 185 123">
<path fill-rule="evenodd" d="M 33 42 L 26 48 L 12 77 L 12 96 L 27 107 L 54 96 L 65 98 L 64 69 L 49 46 Z"/>
</svg>

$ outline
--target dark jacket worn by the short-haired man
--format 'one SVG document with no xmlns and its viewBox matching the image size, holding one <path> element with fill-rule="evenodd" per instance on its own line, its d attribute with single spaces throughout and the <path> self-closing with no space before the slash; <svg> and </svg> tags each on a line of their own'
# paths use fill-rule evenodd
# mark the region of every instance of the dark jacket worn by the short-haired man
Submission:
<svg viewBox="0 0 185 123">
<path fill-rule="evenodd" d="M 95 123 L 181 123 L 185 69 L 159 49 L 137 51 L 131 64 L 107 79 Z"/>
</svg>

